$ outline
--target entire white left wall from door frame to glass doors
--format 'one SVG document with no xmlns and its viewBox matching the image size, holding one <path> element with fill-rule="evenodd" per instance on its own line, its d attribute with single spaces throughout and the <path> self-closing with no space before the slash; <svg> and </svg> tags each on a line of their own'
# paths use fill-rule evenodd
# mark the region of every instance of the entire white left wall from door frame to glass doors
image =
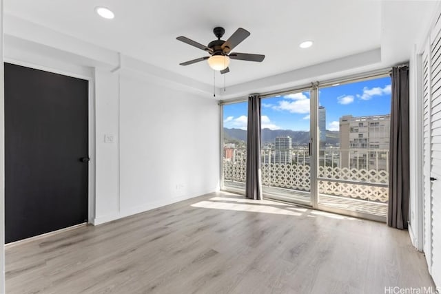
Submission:
<svg viewBox="0 0 441 294">
<path fill-rule="evenodd" d="M 94 223 L 218 190 L 219 116 L 212 99 L 96 70 Z"/>
</svg>

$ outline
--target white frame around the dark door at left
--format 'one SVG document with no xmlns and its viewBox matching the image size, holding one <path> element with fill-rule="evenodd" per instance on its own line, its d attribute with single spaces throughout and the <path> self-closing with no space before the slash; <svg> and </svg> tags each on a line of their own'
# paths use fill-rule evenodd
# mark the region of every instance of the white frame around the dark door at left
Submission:
<svg viewBox="0 0 441 294">
<path fill-rule="evenodd" d="M 43 70 L 45 72 L 52 72 L 54 74 L 61 74 L 63 76 L 70 76 L 72 78 L 81 78 L 88 81 L 88 156 L 90 158 L 88 164 L 88 224 L 93 224 L 95 218 L 95 158 L 96 158 L 96 128 L 95 128 L 95 70 L 94 68 L 85 68 L 84 72 L 90 70 L 90 74 L 78 74 L 69 72 L 67 70 L 60 70 L 54 67 L 48 67 L 38 65 L 36 63 L 30 63 L 28 61 L 18 61 L 16 59 L 3 59 L 5 63 L 11 63 L 14 65 L 21 65 L 29 67 L 34 70 Z"/>
</svg>

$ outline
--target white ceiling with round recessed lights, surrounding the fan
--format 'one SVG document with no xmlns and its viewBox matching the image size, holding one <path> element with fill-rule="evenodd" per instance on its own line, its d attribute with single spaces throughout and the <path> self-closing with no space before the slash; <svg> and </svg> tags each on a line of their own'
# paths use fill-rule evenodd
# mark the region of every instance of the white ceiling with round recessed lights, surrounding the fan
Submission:
<svg viewBox="0 0 441 294">
<path fill-rule="evenodd" d="M 216 26 L 225 28 L 223 39 L 242 27 L 251 36 L 234 51 L 265 54 L 266 58 L 263 63 L 233 60 L 227 84 L 236 85 L 376 48 L 389 52 L 383 62 L 403 61 L 409 55 L 396 52 L 394 38 L 404 36 L 409 39 L 404 43 L 414 42 L 406 30 L 416 31 L 420 14 L 427 19 L 434 1 L 386 1 L 391 10 L 388 15 L 384 15 L 384 2 L 5 0 L 5 12 L 209 85 L 213 72 L 207 63 L 178 65 L 207 53 L 177 41 L 176 36 L 207 44 L 216 39 L 212 33 Z M 98 17 L 96 6 L 110 8 L 115 19 Z M 398 22 L 401 10 L 417 17 Z M 298 44 L 305 40 L 314 41 L 313 47 L 300 49 Z M 403 41 L 398 44 L 403 47 Z M 217 76 L 216 84 L 223 85 Z"/>
</svg>

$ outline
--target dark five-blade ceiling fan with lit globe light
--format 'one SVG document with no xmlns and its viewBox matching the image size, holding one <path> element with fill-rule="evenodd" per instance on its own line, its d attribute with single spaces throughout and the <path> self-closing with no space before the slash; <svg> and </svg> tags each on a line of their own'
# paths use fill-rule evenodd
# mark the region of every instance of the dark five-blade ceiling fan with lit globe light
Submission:
<svg viewBox="0 0 441 294">
<path fill-rule="evenodd" d="M 213 30 L 214 35 L 217 40 L 210 42 L 207 46 L 202 45 L 196 41 L 188 39 L 185 36 L 178 36 L 176 39 L 187 43 L 188 45 L 192 45 L 196 48 L 202 49 L 208 52 L 211 56 L 205 56 L 198 59 L 193 59 L 191 61 L 186 61 L 183 63 L 179 63 L 180 65 L 190 65 L 193 63 L 197 63 L 199 61 L 207 60 L 210 67 L 213 70 L 220 70 L 221 74 L 226 74 L 229 72 L 229 59 L 238 59 L 243 61 L 256 61 L 262 62 L 265 59 L 265 55 L 261 54 L 248 54 L 248 53 L 238 53 L 231 52 L 240 42 L 245 40 L 247 36 L 249 36 L 249 32 L 243 28 L 238 28 L 232 36 L 229 37 L 227 41 L 220 40 L 223 34 L 225 33 L 224 28 L 216 27 Z"/>
</svg>

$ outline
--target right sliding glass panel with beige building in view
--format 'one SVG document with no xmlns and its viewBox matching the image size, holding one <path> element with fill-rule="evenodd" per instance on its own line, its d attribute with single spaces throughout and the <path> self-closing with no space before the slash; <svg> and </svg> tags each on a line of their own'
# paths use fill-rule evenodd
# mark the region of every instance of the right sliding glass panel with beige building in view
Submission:
<svg viewBox="0 0 441 294">
<path fill-rule="evenodd" d="M 318 208 L 387 216 L 391 78 L 320 87 Z"/>
</svg>

